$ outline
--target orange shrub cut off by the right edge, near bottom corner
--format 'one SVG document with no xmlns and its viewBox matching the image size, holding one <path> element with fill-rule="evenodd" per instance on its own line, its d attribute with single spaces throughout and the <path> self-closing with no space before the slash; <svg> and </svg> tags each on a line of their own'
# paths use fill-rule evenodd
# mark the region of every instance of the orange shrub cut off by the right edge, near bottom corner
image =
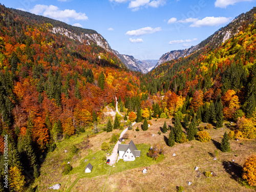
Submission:
<svg viewBox="0 0 256 192">
<path fill-rule="evenodd" d="M 256 186 L 256 156 L 253 155 L 246 159 L 243 167 L 243 179 L 245 179 L 250 186 Z"/>
</svg>

